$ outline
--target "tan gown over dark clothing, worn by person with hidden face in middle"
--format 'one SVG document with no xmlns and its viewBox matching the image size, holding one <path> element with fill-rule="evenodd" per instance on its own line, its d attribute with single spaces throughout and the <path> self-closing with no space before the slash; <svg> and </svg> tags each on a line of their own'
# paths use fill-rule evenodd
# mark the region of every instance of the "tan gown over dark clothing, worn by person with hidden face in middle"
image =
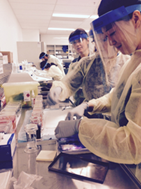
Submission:
<svg viewBox="0 0 141 189">
<path fill-rule="evenodd" d="M 97 53 L 82 58 L 62 81 L 53 82 L 53 87 L 60 86 L 62 88 L 59 100 L 64 101 L 72 96 L 79 87 L 82 87 L 86 100 L 96 99 L 107 94 L 115 86 L 120 69 L 129 58 L 130 56 L 120 53 L 109 61 L 106 67 Z"/>
</svg>

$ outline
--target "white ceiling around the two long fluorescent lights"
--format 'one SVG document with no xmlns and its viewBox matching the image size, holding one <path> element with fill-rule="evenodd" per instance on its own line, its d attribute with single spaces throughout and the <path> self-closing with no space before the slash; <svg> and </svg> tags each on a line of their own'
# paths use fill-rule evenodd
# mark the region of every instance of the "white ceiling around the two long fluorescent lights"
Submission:
<svg viewBox="0 0 141 189">
<path fill-rule="evenodd" d="M 60 18 L 53 13 L 97 15 L 100 0 L 8 0 L 22 29 L 39 30 L 40 34 L 70 34 L 51 28 L 90 29 L 91 18 Z"/>
</svg>

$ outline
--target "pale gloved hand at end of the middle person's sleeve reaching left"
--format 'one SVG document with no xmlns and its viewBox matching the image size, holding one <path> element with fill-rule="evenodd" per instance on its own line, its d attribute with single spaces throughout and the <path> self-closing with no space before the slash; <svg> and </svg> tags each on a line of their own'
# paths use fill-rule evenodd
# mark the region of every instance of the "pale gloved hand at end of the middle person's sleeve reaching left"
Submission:
<svg viewBox="0 0 141 189">
<path fill-rule="evenodd" d="M 57 104 L 59 102 L 61 91 L 61 87 L 52 88 L 47 96 L 47 105 L 51 106 Z"/>
</svg>

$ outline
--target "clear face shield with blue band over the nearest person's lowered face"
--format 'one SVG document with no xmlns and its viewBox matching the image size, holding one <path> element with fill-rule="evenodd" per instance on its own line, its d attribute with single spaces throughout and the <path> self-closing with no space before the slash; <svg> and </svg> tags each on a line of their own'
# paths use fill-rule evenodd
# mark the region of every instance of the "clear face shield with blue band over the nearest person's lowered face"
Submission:
<svg viewBox="0 0 141 189">
<path fill-rule="evenodd" d="M 98 51 L 103 60 L 115 53 L 131 54 L 136 49 L 136 29 L 129 18 L 141 5 L 120 7 L 110 11 L 91 23 Z"/>
</svg>

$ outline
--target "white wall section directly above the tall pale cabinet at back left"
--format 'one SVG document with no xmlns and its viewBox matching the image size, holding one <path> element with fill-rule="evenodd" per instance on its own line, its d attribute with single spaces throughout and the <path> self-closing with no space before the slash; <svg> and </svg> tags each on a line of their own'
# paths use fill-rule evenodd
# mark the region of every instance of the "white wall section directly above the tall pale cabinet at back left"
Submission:
<svg viewBox="0 0 141 189">
<path fill-rule="evenodd" d="M 38 30 L 22 30 L 23 41 L 40 41 L 40 35 Z"/>
</svg>

